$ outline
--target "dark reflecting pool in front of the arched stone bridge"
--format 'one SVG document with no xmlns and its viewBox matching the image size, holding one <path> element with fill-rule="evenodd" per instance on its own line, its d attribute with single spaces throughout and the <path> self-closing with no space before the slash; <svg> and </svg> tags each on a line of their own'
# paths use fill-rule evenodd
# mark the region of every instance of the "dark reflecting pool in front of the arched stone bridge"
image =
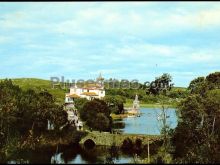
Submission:
<svg viewBox="0 0 220 165">
<path fill-rule="evenodd" d="M 8 164 L 99 164 L 99 163 L 131 163 L 133 158 L 123 154 L 119 148 L 95 146 L 86 149 L 80 145 L 69 145 L 61 147 L 58 152 L 56 148 L 41 149 L 38 151 L 18 151 L 8 160 Z"/>
</svg>

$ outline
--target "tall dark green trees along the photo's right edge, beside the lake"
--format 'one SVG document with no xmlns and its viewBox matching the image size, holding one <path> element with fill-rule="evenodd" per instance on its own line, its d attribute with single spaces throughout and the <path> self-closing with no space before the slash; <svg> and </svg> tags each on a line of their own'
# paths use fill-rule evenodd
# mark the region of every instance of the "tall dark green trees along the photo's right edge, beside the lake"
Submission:
<svg viewBox="0 0 220 165">
<path fill-rule="evenodd" d="M 198 77 L 179 105 L 174 158 L 180 163 L 220 163 L 220 72 Z"/>
</svg>

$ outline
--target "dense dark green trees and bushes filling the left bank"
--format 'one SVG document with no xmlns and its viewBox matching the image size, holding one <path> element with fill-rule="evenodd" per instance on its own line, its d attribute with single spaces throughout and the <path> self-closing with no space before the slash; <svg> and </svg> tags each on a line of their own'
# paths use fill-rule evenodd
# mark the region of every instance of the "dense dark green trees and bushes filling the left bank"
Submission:
<svg viewBox="0 0 220 165">
<path fill-rule="evenodd" d="M 48 122 L 53 124 L 53 130 L 48 130 Z M 60 130 L 66 123 L 67 113 L 63 106 L 56 104 L 47 91 L 22 90 L 7 79 L 0 82 L 2 156 L 7 157 L 17 149 L 71 142 L 76 131 Z"/>
</svg>

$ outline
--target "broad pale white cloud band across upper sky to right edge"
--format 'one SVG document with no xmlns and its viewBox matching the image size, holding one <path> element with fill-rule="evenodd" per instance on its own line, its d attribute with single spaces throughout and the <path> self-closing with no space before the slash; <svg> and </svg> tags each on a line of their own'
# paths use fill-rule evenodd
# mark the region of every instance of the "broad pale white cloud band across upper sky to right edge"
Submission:
<svg viewBox="0 0 220 165">
<path fill-rule="evenodd" d="M 130 9 L 117 10 L 106 6 L 76 11 L 72 19 L 57 25 L 58 32 L 67 34 L 145 35 L 159 36 L 182 29 L 201 30 L 202 27 L 219 26 L 220 8 L 188 11 L 178 7 L 167 12 Z"/>
</svg>

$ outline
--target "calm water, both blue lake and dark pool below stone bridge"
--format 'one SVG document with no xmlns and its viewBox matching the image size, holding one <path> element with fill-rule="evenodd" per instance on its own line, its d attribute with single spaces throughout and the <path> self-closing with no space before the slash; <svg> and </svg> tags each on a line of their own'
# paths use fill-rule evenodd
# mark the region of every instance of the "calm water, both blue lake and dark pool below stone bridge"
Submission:
<svg viewBox="0 0 220 165">
<path fill-rule="evenodd" d="M 158 121 L 159 109 L 155 108 L 141 108 L 141 116 L 135 118 L 124 118 L 114 121 L 114 129 L 120 130 L 124 133 L 132 134 L 160 134 L 160 121 Z M 175 109 L 167 110 L 167 122 L 175 128 L 177 125 Z M 144 154 L 144 157 L 146 154 Z M 25 151 L 18 152 L 12 156 L 8 163 L 66 163 L 66 164 L 94 164 L 94 163 L 132 163 L 134 158 L 132 156 L 123 154 L 120 150 L 112 153 L 110 148 L 103 146 L 96 146 L 89 150 L 83 146 L 74 145 L 57 148 L 47 148 L 40 151 Z"/>
</svg>

